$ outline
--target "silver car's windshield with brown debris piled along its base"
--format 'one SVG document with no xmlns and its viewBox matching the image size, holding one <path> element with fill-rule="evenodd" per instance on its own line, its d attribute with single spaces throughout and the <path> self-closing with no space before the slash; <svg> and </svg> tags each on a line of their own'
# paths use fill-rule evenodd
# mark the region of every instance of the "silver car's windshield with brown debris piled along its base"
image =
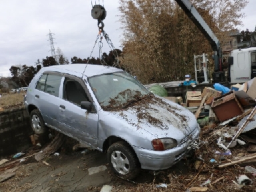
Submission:
<svg viewBox="0 0 256 192">
<path fill-rule="evenodd" d="M 89 84 L 104 110 L 123 109 L 151 93 L 125 72 L 107 73 L 89 78 Z"/>
</svg>

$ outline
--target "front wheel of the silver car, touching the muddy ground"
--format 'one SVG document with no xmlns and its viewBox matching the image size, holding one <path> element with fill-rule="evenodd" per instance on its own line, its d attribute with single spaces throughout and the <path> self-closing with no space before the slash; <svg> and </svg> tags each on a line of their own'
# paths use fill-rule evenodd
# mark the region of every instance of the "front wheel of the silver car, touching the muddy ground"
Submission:
<svg viewBox="0 0 256 192">
<path fill-rule="evenodd" d="M 137 155 L 124 141 L 113 143 L 107 150 L 107 161 L 118 177 L 134 179 L 141 172 Z"/>
</svg>

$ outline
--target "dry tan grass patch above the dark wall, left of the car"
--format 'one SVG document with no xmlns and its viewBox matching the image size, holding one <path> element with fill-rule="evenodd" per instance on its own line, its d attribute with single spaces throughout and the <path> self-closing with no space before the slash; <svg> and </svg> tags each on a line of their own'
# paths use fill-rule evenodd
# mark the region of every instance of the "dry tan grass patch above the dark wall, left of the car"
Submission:
<svg viewBox="0 0 256 192">
<path fill-rule="evenodd" d="M 24 105 L 25 93 L 5 94 L 0 98 L 0 107 L 3 109 L 11 109 L 15 107 L 21 107 Z"/>
</svg>

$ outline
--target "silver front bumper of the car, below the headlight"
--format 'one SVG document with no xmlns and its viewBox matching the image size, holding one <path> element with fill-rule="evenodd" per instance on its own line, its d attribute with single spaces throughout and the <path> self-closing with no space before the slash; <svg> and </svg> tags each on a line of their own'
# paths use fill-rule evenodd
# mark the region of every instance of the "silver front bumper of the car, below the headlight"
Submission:
<svg viewBox="0 0 256 192">
<path fill-rule="evenodd" d="M 195 133 L 191 135 L 191 138 L 185 143 L 165 151 L 153 151 L 133 146 L 139 162 L 141 163 L 141 168 L 152 171 L 168 169 L 187 154 L 189 151 L 188 147 L 193 145 L 195 140 L 198 139 L 200 130 L 198 125 L 197 131 L 195 131 Z"/>
</svg>

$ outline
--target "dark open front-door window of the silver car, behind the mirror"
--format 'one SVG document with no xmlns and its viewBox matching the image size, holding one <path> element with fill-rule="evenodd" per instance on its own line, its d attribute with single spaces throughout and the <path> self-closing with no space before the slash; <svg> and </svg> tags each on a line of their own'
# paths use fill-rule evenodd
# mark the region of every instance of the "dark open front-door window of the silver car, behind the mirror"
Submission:
<svg viewBox="0 0 256 192">
<path fill-rule="evenodd" d="M 80 105 L 81 101 L 89 101 L 89 97 L 85 93 L 82 85 L 78 81 L 67 77 L 65 77 L 63 86 L 63 99 L 77 105 Z"/>
</svg>

